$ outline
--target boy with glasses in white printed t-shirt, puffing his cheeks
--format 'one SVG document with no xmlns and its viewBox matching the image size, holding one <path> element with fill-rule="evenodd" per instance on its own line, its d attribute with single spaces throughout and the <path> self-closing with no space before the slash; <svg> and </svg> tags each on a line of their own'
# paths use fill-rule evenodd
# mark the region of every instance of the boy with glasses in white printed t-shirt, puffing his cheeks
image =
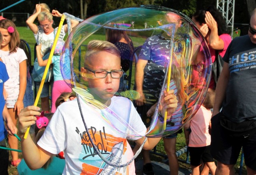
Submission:
<svg viewBox="0 0 256 175">
<path fill-rule="evenodd" d="M 51 119 L 44 135 L 35 145 L 30 136 L 22 140 L 22 153 L 27 165 L 31 169 L 38 169 L 50 158 L 52 154 L 64 151 L 66 167 L 63 174 L 119 174 L 135 175 L 135 168 L 114 167 L 105 164 L 95 153 L 81 115 L 89 128 L 93 142 L 102 155 L 110 157 L 109 161 L 117 165 L 124 164 L 133 156 L 132 149 L 126 139 L 134 140 L 142 145 L 147 129 L 132 102 L 128 98 L 114 96 L 119 87 L 122 70 L 120 53 L 114 44 L 108 41 L 92 40 L 88 43 L 84 68 L 81 69 L 84 81 L 88 82 L 89 96 L 97 102 L 102 109 L 94 108 L 89 103 L 79 100 L 81 112 L 78 110 L 78 99 L 61 104 Z M 177 107 L 177 99 L 170 90 L 164 93 L 164 102 L 160 105 L 161 114 L 168 110 L 168 118 Z M 88 96 L 84 96 L 88 98 Z M 81 96 L 79 96 L 81 99 Z M 28 126 L 34 124 L 39 115 L 39 108 L 28 106 L 19 115 L 19 130 L 21 138 Z M 112 120 L 106 121 L 103 116 Z M 114 115 L 116 114 L 116 115 Z M 129 126 L 122 125 L 120 120 L 127 121 Z M 119 122 L 118 122 L 119 121 Z M 108 122 L 112 122 L 108 124 Z M 120 130 L 114 129 L 114 127 Z M 158 125 L 162 127 L 161 125 Z M 132 130 L 131 130 L 132 128 Z M 122 131 L 122 132 L 120 132 Z M 130 133 L 136 131 L 136 135 Z M 152 149 L 161 138 L 148 138 L 144 149 Z"/>
</svg>

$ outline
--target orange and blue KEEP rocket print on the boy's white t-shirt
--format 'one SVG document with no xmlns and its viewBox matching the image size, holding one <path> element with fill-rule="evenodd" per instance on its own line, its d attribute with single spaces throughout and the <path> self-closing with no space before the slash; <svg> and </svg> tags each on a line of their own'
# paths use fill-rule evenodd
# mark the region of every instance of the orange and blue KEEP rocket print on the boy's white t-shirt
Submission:
<svg viewBox="0 0 256 175">
<path fill-rule="evenodd" d="M 100 151 L 100 153 L 114 164 L 124 164 L 122 159 L 124 158 L 124 153 L 127 149 L 126 139 L 118 138 L 111 134 L 107 134 L 105 127 L 102 130 L 97 130 L 95 127 L 91 126 L 88 128 L 90 136 Z M 125 175 L 128 174 L 128 168 L 116 168 L 105 163 L 94 151 L 90 139 L 86 131 L 80 132 L 76 128 L 77 134 L 81 138 L 82 151 L 79 155 L 79 159 L 82 163 L 81 175 Z M 126 158 L 124 158 L 126 159 Z"/>
</svg>

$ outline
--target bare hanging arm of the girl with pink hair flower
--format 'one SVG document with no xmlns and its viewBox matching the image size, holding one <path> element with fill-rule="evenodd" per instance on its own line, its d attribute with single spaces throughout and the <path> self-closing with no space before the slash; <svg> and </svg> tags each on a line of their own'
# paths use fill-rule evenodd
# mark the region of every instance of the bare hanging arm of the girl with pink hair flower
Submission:
<svg viewBox="0 0 256 175">
<path fill-rule="evenodd" d="M 24 60 L 19 64 L 19 72 L 20 72 L 20 89 L 19 95 L 16 103 L 14 104 L 14 110 L 17 110 L 17 114 L 20 113 L 20 110 L 24 108 L 23 98 L 26 91 L 27 86 L 27 61 Z"/>
</svg>

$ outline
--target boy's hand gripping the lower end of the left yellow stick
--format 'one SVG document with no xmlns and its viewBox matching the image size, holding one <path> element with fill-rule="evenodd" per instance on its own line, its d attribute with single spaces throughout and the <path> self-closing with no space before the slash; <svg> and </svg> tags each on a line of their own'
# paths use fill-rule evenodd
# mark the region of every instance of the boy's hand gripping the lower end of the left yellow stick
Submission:
<svg viewBox="0 0 256 175">
<path fill-rule="evenodd" d="M 28 128 L 32 124 L 36 123 L 36 117 L 40 116 L 39 112 L 40 108 L 37 106 L 27 106 L 20 111 L 19 116 L 19 132 L 20 134 L 24 134 Z"/>
</svg>

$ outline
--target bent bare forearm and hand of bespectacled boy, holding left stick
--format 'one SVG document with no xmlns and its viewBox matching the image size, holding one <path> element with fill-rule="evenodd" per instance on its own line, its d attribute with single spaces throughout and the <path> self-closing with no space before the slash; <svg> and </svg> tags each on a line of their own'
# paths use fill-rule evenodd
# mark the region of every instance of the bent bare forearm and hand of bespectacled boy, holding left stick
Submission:
<svg viewBox="0 0 256 175">
<path fill-rule="evenodd" d="M 28 126 L 36 123 L 35 116 L 40 116 L 41 113 L 38 112 L 39 110 L 40 108 L 37 106 L 27 106 L 26 108 L 23 108 L 19 114 L 19 133 L 22 155 L 30 169 L 41 168 L 53 155 L 37 146 L 29 134 L 28 137 L 24 139 L 24 134 Z"/>
</svg>

